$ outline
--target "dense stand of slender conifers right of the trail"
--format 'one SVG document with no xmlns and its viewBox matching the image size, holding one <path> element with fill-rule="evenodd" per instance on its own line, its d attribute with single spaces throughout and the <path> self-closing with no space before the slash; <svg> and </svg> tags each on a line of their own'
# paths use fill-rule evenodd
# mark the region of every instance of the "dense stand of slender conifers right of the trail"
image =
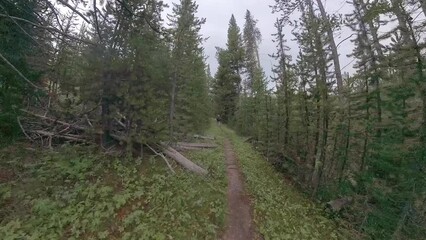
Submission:
<svg viewBox="0 0 426 240">
<path fill-rule="evenodd" d="M 426 5 L 349 2 L 353 13 L 341 16 L 320 0 L 276 0 L 272 89 L 255 17 L 247 11 L 243 30 L 232 17 L 218 50 L 216 108 L 313 198 L 354 202 L 345 217 L 374 239 L 425 236 L 425 21 L 416 19 Z M 356 36 L 352 75 L 341 71 L 334 37 L 343 25 Z"/>
</svg>

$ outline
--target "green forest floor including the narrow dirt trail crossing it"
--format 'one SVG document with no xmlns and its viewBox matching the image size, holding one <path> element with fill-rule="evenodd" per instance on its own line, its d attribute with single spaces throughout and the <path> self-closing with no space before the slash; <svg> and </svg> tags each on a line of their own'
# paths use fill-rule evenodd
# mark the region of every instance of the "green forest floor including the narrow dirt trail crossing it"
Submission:
<svg viewBox="0 0 426 240">
<path fill-rule="evenodd" d="M 359 239 L 233 131 L 206 134 L 218 148 L 184 155 L 207 177 L 90 147 L 1 149 L 0 239 Z"/>
</svg>

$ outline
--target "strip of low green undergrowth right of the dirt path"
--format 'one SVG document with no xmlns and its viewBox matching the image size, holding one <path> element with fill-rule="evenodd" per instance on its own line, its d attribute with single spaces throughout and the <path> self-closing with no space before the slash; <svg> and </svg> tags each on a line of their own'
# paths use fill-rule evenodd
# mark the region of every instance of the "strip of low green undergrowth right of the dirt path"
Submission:
<svg viewBox="0 0 426 240">
<path fill-rule="evenodd" d="M 306 196 L 283 180 L 282 174 L 233 131 L 232 140 L 254 207 L 254 221 L 264 239 L 353 239 L 324 216 Z"/>
</svg>

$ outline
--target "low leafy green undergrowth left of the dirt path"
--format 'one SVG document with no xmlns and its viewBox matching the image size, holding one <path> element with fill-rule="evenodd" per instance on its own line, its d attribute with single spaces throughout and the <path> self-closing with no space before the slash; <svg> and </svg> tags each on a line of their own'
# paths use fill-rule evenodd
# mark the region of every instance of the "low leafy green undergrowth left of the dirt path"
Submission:
<svg viewBox="0 0 426 240">
<path fill-rule="evenodd" d="M 176 165 L 171 174 L 161 158 L 129 160 L 88 147 L 2 150 L 0 239 L 218 239 L 223 148 L 185 155 L 209 175 Z"/>
</svg>

